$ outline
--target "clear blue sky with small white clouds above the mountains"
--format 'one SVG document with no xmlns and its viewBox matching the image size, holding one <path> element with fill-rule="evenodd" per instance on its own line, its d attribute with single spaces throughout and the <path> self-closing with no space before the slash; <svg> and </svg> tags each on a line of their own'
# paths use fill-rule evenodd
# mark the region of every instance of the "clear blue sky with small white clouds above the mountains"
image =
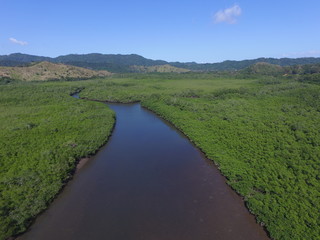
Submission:
<svg viewBox="0 0 320 240">
<path fill-rule="evenodd" d="M 0 55 L 320 57 L 319 0 L 0 0 Z"/>
</svg>

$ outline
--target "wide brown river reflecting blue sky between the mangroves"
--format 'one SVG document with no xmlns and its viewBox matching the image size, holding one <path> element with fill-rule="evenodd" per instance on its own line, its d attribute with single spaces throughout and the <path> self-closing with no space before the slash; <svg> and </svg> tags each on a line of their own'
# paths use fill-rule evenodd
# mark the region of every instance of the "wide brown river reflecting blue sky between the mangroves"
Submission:
<svg viewBox="0 0 320 240">
<path fill-rule="evenodd" d="M 268 239 L 241 198 L 184 136 L 139 104 L 19 239 Z"/>
</svg>

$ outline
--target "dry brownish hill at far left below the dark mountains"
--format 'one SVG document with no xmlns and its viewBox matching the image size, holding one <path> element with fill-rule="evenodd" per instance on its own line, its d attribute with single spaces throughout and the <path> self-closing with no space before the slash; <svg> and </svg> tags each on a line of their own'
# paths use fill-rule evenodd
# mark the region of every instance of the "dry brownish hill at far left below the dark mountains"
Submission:
<svg viewBox="0 0 320 240">
<path fill-rule="evenodd" d="M 0 79 L 20 81 L 89 79 L 110 74 L 107 71 L 93 71 L 50 62 L 40 62 L 24 67 L 0 67 Z"/>
</svg>

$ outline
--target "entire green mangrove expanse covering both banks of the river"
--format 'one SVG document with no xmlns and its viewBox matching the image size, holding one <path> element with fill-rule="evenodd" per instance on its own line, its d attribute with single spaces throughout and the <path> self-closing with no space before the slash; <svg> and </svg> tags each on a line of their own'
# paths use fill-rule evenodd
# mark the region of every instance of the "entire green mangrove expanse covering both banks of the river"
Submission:
<svg viewBox="0 0 320 240">
<path fill-rule="evenodd" d="M 218 165 L 272 238 L 320 236 L 318 81 L 185 73 L 0 85 L 0 239 L 25 230 L 76 159 L 110 134 L 113 113 L 71 98 L 78 89 L 88 99 L 141 101 L 172 122 Z"/>
</svg>

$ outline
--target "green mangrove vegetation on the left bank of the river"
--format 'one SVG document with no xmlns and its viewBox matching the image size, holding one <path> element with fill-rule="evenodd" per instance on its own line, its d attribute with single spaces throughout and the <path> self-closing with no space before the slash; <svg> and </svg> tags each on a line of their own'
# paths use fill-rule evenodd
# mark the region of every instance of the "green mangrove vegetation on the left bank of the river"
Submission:
<svg viewBox="0 0 320 240">
<path fill-rule="evenodd" d="M 81 157 L 107 140 L 114 114 L 70 84 L 0 85 L 0 239 L 25 231 Z"/>
</svg>

